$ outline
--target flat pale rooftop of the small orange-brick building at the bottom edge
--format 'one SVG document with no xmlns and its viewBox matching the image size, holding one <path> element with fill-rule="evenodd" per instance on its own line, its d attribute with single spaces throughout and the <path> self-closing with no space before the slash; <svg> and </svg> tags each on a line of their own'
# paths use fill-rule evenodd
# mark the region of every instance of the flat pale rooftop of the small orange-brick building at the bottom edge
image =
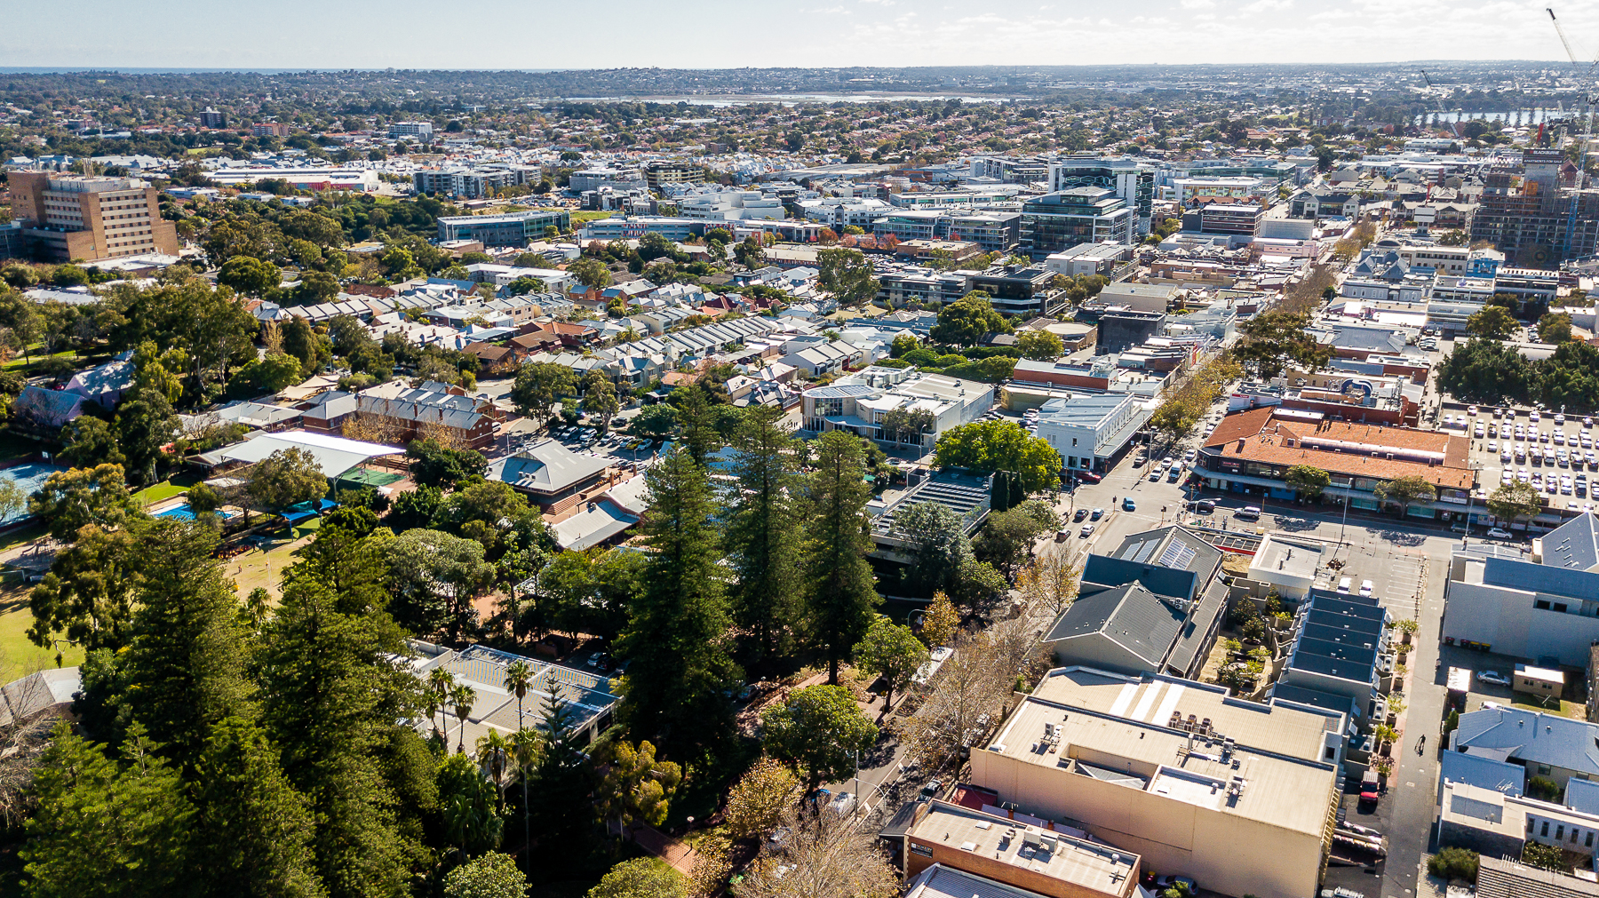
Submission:
<svg viewBox="0 0 1599 898">
<path fill-rule="evenodd" d="M 1124 895 L 1129 877 L 1138 874 L 1140 858 L 1132 852 L 942 801 L 927 802 L 907 836 L 1103 895 Z"/>
</svg>

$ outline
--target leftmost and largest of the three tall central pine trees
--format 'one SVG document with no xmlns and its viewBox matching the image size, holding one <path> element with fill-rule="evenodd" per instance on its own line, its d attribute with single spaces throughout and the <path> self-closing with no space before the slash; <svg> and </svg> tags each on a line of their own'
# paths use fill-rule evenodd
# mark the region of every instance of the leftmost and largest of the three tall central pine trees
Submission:
<svg viewBox="0 0 1599 898">
<path fill-rule="evenodd" d="M 734 679 L 728 658 L 726 574 L 705 470 L 673 449 L 644 475 L 652 497 L 644 518 L 649 558 L 643 591 L 622 633 L 632 665 L 620 713 L 638 737 L 660 737 L 676 757 L 699 759 L 729 732 L 721 689 Z"/>
</svg>

